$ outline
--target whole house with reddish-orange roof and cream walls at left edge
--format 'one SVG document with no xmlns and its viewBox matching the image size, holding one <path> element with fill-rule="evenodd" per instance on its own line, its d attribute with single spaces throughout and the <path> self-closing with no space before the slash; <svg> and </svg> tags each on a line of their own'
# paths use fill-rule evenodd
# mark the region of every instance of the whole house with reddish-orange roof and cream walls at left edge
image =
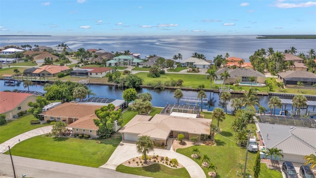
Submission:
<svg viewBox="0 0 316 178">
<path fill-rule="evenodd" d="M 5 119 L 17 118 L 21 111 L 30 109 L 29 102 L 36 102 L 37 95 L 0 91 L 0 114 L 5 114 Z"/>
</svg>

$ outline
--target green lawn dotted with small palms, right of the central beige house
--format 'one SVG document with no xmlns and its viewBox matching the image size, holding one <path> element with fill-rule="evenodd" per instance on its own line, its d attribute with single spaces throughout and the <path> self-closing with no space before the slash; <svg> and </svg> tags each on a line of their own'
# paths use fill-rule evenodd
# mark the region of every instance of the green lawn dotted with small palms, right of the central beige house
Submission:
<svg viewBox="0 0 316 178">
<path fill-rule="evenodd" d="M 204 112 L 204 116 L 209 116 L 209 113 Z M 212 163 L 215 163 L 217 169 L 216 173 L 218 174 L 217 178 L 225 178 L 225 177 L 236 177 L 237 171 L 239 173 L 243 170 L 238 168 L 237 164 L 241 163 L 244 164 L 245 161 L 245 154 L 246 149 L 240 148 L 234 142 L 234 131 L 231 129 L 231 125 L 233 120 L 235 119 L 232 115 L 226 115 L 226 119 L 223 122 L 220 122 L 219 126 L 222 129 L 220 134 L 215 135 L 216 146 L 205 146 L 205 145 L 197 145 L 183 149 L 177 149 L 178 153 L 186 155 L 187 157 L 191 158 L 191 151 L 194 147 L 197 147 L 200 151 L 200 157 L 204 154 L 207 154 Z M 217 121 L 214 120 L 212 123 L 217 124 Z M 255 130 L 255 125 L 249 125 L 251 130 Z M 255 153 L 248 153 L 248 162 L 247 162 L 247 171 L 246 173 L 253 176 L 252 168 L 255 161 Z M 201 165 L 202 160 L 201 158 L 194 159 L 198 165 Z M 206 168 L 202 168 L 205 175 L 207 175 L 208 170 Z M 265 164 L 261 164 L 261 176 L 260 178 L 282 178 L 280 172 L 273 171 L 266 168 Z"/>
</svg>

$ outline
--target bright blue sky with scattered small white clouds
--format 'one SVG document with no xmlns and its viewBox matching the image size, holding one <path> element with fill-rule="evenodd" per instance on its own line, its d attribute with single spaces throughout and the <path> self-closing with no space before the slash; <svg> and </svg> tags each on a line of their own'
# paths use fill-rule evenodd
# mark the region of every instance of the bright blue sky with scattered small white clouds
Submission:
<svg viewBox="0 0 316 178">
<path fill-rule="evenodd" d="M 0 35 L 316 35 L 316 1 L 0 0 Z"/>
</svg>

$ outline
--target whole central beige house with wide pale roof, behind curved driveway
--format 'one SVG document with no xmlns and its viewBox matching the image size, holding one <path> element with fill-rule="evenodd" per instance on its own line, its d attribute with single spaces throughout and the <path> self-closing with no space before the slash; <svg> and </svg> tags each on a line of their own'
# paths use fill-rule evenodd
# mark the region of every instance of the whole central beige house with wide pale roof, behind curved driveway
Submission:
<svg viewBox="0 0 316 178">
<path fill-rule="evenodd" d="M 140 136 L 148 135 L 155 145 L 166 145 L 169 137 L 184 134 L 185 139 L 198 136 L 198 141 L 205 140 L 210 134 L 211 120 L 156 114 L 153 116 L 136 115 L 118 132 L 122 140 L 137 141 Z"/>
</svg>

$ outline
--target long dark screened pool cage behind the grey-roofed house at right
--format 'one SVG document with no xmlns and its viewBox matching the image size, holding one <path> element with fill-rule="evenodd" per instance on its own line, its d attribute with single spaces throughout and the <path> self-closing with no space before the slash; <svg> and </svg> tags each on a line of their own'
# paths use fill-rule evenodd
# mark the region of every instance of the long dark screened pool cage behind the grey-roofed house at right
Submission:
<svg viewBox="0 0 316 178">
<path fill-rule="evenodd" d="M 312 118 L 279 115 L 260 115 L 259 122 L 285 126 L 316 128 L 316 120 Z"/>
</svg>

